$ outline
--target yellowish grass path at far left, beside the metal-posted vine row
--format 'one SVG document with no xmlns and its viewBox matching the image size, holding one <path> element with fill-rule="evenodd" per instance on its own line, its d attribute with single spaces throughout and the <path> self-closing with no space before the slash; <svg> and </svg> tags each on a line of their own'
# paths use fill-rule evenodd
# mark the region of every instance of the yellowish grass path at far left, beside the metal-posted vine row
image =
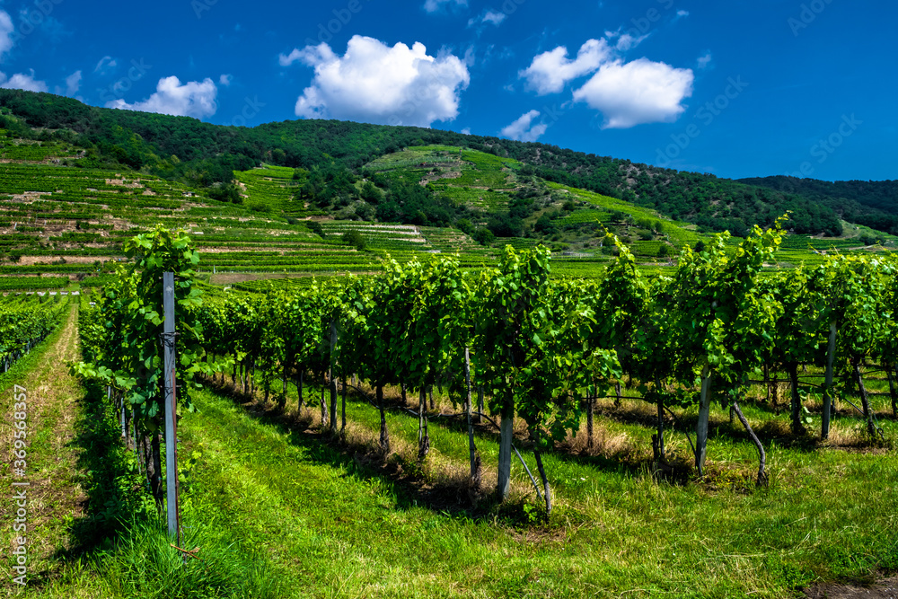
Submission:
<svg viewBox="0 0 898 599">
<path fill-rule="evenodd" d="M 69 544 L 68 525 L 81 515 L 86 496 L 81 489 L 76 463 L 75 436 L 81 385 L 68 374 L 66 363 L 80 357 L 77 304 L 72 303 L 64 322 L 38 348 L 13 367 L 2 395 L 0 447 L 4 454 L 2 479 L 4 498 L 11 497 L 13 480 L 27 480 L 29 580 L 48 574 L 50 556 Z M 13 476 L 13 385 L 27 390 L 28 456 L 23 478 Z M 8 418 L 7 418 L 8 415 Z M 4 500 L 0 508 L 0 547 L 4 558 L 13 547 L 13 506 Z M 16 533 L 16 536 L 18 533 Z M 7 563 L 9 561 L 7 560 Z M 31 582 L 29 583 L 31 584 Z M 14 592 L 8 577 L 2 583 Z"/>
</svg>

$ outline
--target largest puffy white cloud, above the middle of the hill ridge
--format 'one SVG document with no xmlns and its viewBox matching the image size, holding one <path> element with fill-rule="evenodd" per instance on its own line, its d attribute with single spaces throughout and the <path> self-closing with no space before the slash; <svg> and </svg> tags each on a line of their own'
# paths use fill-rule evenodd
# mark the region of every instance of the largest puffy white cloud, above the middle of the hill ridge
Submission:
<svg viewBox="0 0 898 599">
<path fill-rule="evenodd" d="M 282 64 L 296 60 L 315 69 L 296 101 L 296 115 L 307 119 L 429 127 L 458 116 L 460 92 L 471 81 L 462 59 L 447 52 L 428 56 L 420 42 L 391 48 L 356 35 L 342 57 L 322 43 L 295 49 Z"/>
</svg>

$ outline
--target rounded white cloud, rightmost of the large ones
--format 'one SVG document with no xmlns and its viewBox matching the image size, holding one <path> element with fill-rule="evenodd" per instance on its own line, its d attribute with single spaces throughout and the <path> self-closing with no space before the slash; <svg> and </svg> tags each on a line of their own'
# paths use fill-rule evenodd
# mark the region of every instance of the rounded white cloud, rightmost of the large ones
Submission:
<svg viewBox="0 0 898 599">
<path fill-rule="evenodd" d="M 686 107 L 692 95 L 691 69 L 674 68 L 662 62 L 639 58 L 629 63 L 605 63 L 583 87 L 574 101 L 584 101 L 604 115 L 602 128 L 630 128 L 644 123 L 669 123 Z"/>
</svg>

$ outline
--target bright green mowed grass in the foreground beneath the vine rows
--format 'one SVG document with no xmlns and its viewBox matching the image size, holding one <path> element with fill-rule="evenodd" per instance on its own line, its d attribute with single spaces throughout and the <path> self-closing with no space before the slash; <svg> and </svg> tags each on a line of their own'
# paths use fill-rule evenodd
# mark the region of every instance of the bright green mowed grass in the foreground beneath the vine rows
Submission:
<svg viewBox="0 0 898 599">
<path fill-rule="evenodd" d="M 434 499 L 467 468 L 466 436 L 451 422 L 431 421 L 433 449 L 418 466 L 417 419 L 392 410 L 396 453 L 382 468 L 360 451 L 376 438 L 378 417 L 366 402 L 349 403 L 348 450 L 307 428 L 317 409 L 273 418 L 211 391 L 196 401 L 200 411 L 180 429 L 201 454 L 186 493 L 190 517 L 263 549 L 285 597 L 782 597 L 814 580 L 898 568 L 894 452 L 789 448 L 785 417 L 750 402 L 746 415 L 766 440 L 769 489 L 753 487 L 753 445 L 719 411 L 709 480 L 653 480 L 651 430 L 640 424 L 651 407 L 607 401 L 593 455 L 546 456 L 557 507 L 544 524 L 517 463 L 509 507 L 463 511 Z M 894 422 L 884 424 L 894 438 Z M 855 438 L 856 427 L 837 418 L 834 436 Z M 484 484 L 494 484 L 496 438 L 484 431 L 477 444 Z M 578 444 L 582 437 L 571 440 Z M 670 444 L 675 458 L 688 459 L 682 433 Z M 533 469 L 532 454 L 522 453 Z"/>
</svg>

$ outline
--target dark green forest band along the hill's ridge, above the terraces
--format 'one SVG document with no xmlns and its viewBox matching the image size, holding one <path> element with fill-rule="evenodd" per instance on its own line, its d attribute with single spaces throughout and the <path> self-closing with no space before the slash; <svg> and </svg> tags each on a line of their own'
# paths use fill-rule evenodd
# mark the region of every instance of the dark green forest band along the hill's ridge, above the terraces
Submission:
<svg viewBox="0 0 898 599">
<path fill-rule="evenodd" d="M 729 230 L 741 236 L 751 225 L 771 225 L 790 211 L 789 227 L 795 233 L 838 235 L 840 216 L 846 216 L 837 214 L 832 202 L 809 198 L 802 189 L 746 185 L 554 145 L 438 129 L 313 119 L 256 128 L 224 127 L 187 117 L 101 109 L 19 90 L 0 90 L 0 106 L 6 113 L 0 128 L 20 137 L 88 148 L 86 160 L 79 162 L 82 166 L 124 166 L 208 188 L 210 195 L 221 199 L 236 198 L 233 171 L 245 171 L 260 162 L 320 172 L 320 178 L 329 181 L 351 180 L 365 164 L 404 147 L 452 145 L 517 160 L 524 163 L 525 176 L 655 208 L 660 214 L 698 225 L 700 232 Z"/>
</svg>

